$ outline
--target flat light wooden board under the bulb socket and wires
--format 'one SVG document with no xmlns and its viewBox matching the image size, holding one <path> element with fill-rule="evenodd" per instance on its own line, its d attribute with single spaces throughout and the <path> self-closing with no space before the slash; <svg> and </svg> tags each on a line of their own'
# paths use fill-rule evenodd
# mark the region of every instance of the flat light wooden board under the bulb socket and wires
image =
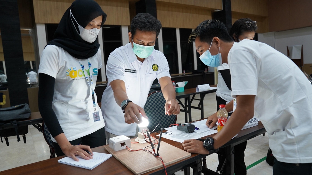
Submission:
<svg viewBox="0 0 312 175">
<path fill-rule="evenodd" d="M 134 141 L 135 138 L 131 139 L 131 142 Z M 131 148 L 133 150 L 142 149 L 150 144 L 131 144 Z M 152 171 L 157 168 L 163 167 L 160 158 L 154 157 L 154 155 L 146 152 L 146 151 L 129 151 L 128 149 L 123 149 L 120 151 L 114 151 L 110 148 L 109 145 L 104 146 L 104 148 L 110 152 L 117 160 L 119 160 L 124 166 L 129 168 L 134 174 L 140 175 Z M 147 148 L 149 151 L 153 150 L 151 147 Z M 157 147 L 155 148 L 156 151 Z M 157 151 L 156 151 L 157 152 Z M 160 143 L 160 148 L 158 154 L 163 158 L 163 163 L 165 165 L 169 165 L 174 162 L 178 162 L 184 158 L 191 157 L 191 153 L 188 153 L 182 149 L 179 149 L 175 146 L 167 144 L 166 142 Z"/>
</svg>

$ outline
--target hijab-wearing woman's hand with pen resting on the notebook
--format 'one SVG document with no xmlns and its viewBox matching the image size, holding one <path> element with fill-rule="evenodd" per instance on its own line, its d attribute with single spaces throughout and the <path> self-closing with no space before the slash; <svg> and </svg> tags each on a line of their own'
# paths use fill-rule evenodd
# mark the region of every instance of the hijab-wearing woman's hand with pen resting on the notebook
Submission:
<svg viewBox="0 0 312 175">
<path fill-rule="evenodd" d="M 85 151 L 86 150 L 86 151 Z M 71 157 L 73 158 L 75 161 L 79 161 L 78 158 L 76 158 L 76 155 L 79 155 L 80 157 L 89 160 L 90 158 L 93 158 L 92 155 L 92 151 L 90 149 L 90 146 L 86 146 L 86 145 L 82 145 L 82 144 L 78 144 L 78 145 L 67 145 L 64 149 L 62 149 L 63 153 L 67 156 L 67 157 Z M 90 155 L 89 153 L 87 153 L 87 151 L 89 151 L 92 155 Z"/>
</svg>

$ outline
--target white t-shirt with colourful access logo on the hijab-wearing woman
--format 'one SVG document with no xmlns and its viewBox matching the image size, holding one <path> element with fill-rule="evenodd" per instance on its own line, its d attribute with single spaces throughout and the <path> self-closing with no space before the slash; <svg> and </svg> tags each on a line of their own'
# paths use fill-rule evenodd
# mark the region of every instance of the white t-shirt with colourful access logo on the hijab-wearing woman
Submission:
<svg viewBox="0 0 312 175">
<path fill-rule="evenodd" d="M 89 70 L 88 60 L 92 70 Z M 79 61 L 85 67 L 85 74 L 93 73 L 91 86 L 94 89 L 98 69 L 102 67 L 100 49 L 89 59 L 76 59 L 61 47 L 47 45 L 42 52 L 38 70 L 38 73 L 55 78 L 52 108 L 68 141 L 91 134 L 105 126 L 96 94 L 96 111 L 99 111 L 100 121 L 93 119 L 92 90 Z M 56 142 L 52 136 L 51 140 Z"/>
</svg>

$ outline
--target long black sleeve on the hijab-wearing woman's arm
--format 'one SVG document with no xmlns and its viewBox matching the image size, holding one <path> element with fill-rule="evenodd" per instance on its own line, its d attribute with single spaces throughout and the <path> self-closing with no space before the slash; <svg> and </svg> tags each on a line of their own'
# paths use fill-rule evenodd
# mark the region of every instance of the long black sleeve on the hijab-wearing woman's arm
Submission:
<svg viewBox="0 0 312 175">
<path fill-rule="evenodd" d="M 39 73 L 38 106 L 42 119 L 50 131 L 52 137 L 64 133 L 55 112 L 52 109 L 55 78 Z"/>
</svg>

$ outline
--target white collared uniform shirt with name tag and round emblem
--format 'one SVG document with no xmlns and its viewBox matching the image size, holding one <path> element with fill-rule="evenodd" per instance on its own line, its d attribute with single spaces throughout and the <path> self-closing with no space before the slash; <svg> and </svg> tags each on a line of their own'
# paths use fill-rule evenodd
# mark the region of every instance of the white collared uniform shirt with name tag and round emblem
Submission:
<svg viewBox="0 0 312 175">
<path fill-rule="evenodd" d="M 168 62 L 158 50 L 139 61 L 132 50 L 131 43 L 115 49 L 106 64 L 108 85 L 102 96 L 102 112 L 105 119 L 105 130 L 115 135 L 135 135 L 136 123 L 127 124 L 120 104 L 114 98 L 110 83 L 122 80 L 125 83 L 129 100 L 144 108 L 153 81 L 157 78 L 170 77 Z M 163 106 L 164 107 L 164 106 Z"/>
</svg>

